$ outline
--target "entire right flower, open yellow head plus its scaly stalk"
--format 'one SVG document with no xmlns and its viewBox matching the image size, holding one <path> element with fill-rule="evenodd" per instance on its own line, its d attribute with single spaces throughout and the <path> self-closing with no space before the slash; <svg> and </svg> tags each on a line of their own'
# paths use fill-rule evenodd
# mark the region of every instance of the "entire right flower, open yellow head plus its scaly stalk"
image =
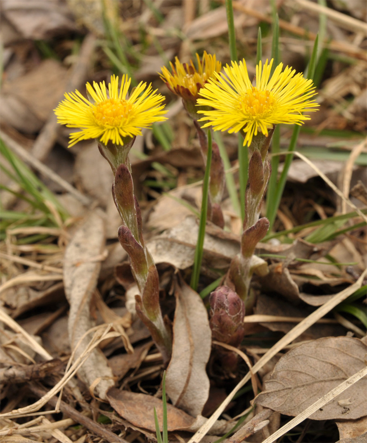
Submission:
<svg viewBox="0 0 367 443">
<path fill-rule="evenodd" d="M 268 149 L 271 135 L 277 124 L 301 125 L 310 117 L 303 112 L 315 111 L 318 104 L 312 100 L 316 94 L 312 80 L 283 63 L 276 66 L 270 76 L 273 60 L 256 66 L 256 79 L 250 82 L 246 63 L 232 62 L 224 68 L 225 74 L 215 73 L 200 90 L 198 105 L 211 107 L 199 109 L 206 122 L 203 127 L 214 130 L 240 132 L 243 149 L 249 150 L 248 188 L 245 195 L 245 219 L 241 238 L 241 251 L 230 265 L 226 283 L 232 285 L 245 301 L 250 312 L 253 297 L 249 297 L 250 281 L 254 272 L 264 275 L 265 262 L 254 256 L 256 245 L 268 230 L 269 222 L 260 218 L 261 205 L 271 174 Z"/>
</svg>

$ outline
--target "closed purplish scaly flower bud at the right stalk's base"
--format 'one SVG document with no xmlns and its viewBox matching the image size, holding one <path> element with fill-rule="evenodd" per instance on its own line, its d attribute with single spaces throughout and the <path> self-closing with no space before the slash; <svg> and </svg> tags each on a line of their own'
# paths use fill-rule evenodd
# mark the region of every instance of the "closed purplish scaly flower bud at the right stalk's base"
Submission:
<svg viewBox="0 0 367 443">
<path fill-rule="evenodd" d="M 244 335 L 245 305 L 228 286 L 219 286 L 210 294 L 210 327 L 212 337 L 238 347 Z"/>
</svg>

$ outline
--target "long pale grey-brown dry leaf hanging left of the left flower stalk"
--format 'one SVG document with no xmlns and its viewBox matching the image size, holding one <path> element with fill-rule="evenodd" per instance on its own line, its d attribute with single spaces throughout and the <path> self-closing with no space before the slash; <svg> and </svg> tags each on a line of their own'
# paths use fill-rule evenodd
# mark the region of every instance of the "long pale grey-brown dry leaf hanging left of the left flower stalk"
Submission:
<svg viewBox="0 0 367 443">
<path fill-rule="evenodd" d="M 64 257 L 65 294 L 70 304 L 68 333 L 74 349 L 82 336 L 94 326 L 90 315 L 91 300 L 100 272 L 101 254 L 104 250 L 104 225 L 100 216 L 90 213 L 78 228 L 67 246 Z M 86 336 L 76 349 L 77 358 L 86 348 L 91 337 Z M 96 393 L 105 398 L 107 389 L 114 385 L 113 374 L 99 348 L 92 351 L 78 371 L 79 377 L 89 387 L 96 379 Z"/>
</svg>

